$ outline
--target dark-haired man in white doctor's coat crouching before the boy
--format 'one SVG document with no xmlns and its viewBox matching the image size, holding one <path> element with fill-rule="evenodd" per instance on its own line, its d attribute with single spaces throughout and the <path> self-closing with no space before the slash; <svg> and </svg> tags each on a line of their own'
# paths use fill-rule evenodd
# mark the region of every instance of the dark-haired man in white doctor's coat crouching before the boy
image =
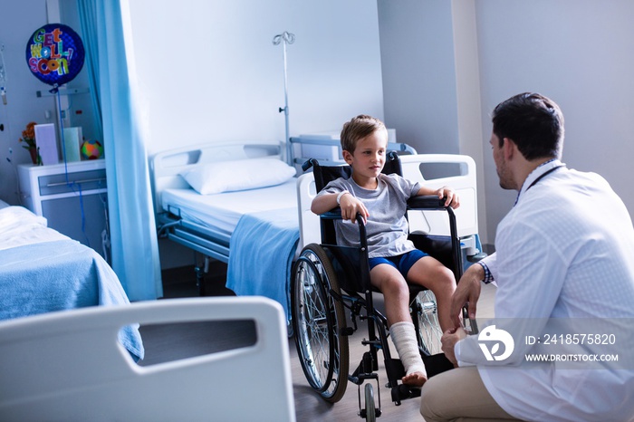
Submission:
<svg viewBox="0 0 634 422">
<path fill-rule="evenodd" d="M 457 284 L 452 303 L 456 329 L 442 339 L 457 368 L 423 386 L 420 412 L 427 422 L 634 419 L 628 350 L 633 334 L 627 322 L 634 321 L 634 229 L 605 179 L 562 164 L 563 135 L 562 111 L 540 94 L 515 95 L 493 112 L 490 143 L 500 186 L 518 196 L 498 225 L 496 253 L 469 267 Z M 480 336 L 466 335 L 458 315 L 468 303 L 475 318 L 480 283 L 494 280 L 496 319 L 600 321 L 601 332 L 592 334 L 614 336 L 610 350 L 617 350 L 621 361 L 529 365 L 525 353 L 547 346 L 534 339 L 526 344 L 516 340 L 521 352 L 504 363 L 490 355 L 476 359 L 476 351 L 485 352 L 485 347 L 478 344 Z M 580 339 L 591 333 L 570 334 Z"/>
</svg>

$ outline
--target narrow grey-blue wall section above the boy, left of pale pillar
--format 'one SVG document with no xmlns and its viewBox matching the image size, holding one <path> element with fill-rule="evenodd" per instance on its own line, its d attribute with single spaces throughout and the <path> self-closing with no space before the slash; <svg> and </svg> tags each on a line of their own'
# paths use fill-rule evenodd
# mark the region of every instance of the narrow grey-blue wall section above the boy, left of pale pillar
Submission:
<svg viewBox="0 0 634 422">
<path fill-rule="evenodd" d="M 386 123 L 419 153 L 458 153 L 451 2 L 378 5 Z"/>
</svg>

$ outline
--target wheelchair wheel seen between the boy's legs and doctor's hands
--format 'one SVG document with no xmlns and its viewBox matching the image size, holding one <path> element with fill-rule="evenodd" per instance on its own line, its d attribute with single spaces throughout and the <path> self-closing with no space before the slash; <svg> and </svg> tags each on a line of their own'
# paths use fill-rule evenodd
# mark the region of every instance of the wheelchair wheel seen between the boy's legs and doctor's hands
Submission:
<svg viewBox="0 0 634 422">
<path fill-rule="evenodd" d="M 418 293 L 412 303 L 412 320 L 418 322 L 418 346 L 424 355 L 440 353 L 443 331 L 438 323 L 436 296 L 430 290 Z"/>
</svg>

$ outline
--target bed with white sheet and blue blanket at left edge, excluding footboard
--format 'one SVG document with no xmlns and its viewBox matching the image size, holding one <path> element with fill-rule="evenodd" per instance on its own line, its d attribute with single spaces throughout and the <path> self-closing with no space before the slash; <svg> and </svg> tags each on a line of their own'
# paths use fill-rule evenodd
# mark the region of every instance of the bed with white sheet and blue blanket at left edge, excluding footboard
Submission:
<svg viewBox="0 0 634 422">
<path fill-rule="evenodd" d="M 24 206 L 0 200 L 0 321 L 127 305 L 117 274 L 100 254 Z M 143 359 L 138 324 L 123 327 L 118 338 L 135 360 Z"/>
</svg>

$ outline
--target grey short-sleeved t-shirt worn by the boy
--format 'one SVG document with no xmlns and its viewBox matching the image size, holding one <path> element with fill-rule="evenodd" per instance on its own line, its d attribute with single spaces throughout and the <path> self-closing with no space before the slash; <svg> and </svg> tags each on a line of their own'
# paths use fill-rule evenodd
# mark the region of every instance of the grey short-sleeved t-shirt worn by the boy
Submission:
<svg viewBox="0 0 634 422">
<path fill-rule="evenodd" d="M 379 186 L 376 189 L 364 189 L 352 177 L 340 177 L 326 185 L 318 196 L 347 190 L 363 202 L 370 213 L 366 223 L 370 258 L 405 254 L 415 249 L 414 244 L 408 240 L 405 211 L 408 199 L 416 196 L 420 184 L 396 174 L 381 173 L 378 179 Z M 351 223 L 350 220 L 336 221 L 335 232 L 339 245 L 360 247 L 359 227 L 356 223 Z"/>
</svg>

